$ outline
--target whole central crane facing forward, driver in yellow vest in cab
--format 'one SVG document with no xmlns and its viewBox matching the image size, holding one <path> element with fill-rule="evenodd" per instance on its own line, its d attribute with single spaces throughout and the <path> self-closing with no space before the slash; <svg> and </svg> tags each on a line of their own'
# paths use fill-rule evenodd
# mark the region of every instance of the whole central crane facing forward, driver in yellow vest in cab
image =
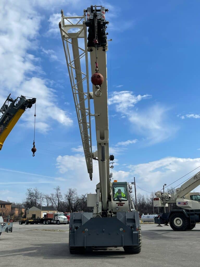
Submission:
<svg viewBox="0 0 200 267">
<path fill-rule="evenodd" d="M 117 180 L 110 182 L 109 161 L 113 161 L 114 156 L 109 156 L 106 11 L 105 7 L 91 6 L 83 11 L 83 16 L 67 17 L 61 10 L 59 23 L 87 171 L 92 180 L 93 159 L 98 160 L 100 180 L 96 193 L 87 195 L 87 206 L 93 207 L 93 212 L 70 214 L 70 253 L 108 247 L 123 247 L 127 253 L 139 253 L 142 246 L 139 213 L 130 194 L 132 186 Z M 88 54 L 92 92 L 89 91 Z M 90 112 L 90 100 L 94 103 L 94 114 Z M 95 118 L 95 152 L 91 146 L 91 116 Z"/>
</svg>

